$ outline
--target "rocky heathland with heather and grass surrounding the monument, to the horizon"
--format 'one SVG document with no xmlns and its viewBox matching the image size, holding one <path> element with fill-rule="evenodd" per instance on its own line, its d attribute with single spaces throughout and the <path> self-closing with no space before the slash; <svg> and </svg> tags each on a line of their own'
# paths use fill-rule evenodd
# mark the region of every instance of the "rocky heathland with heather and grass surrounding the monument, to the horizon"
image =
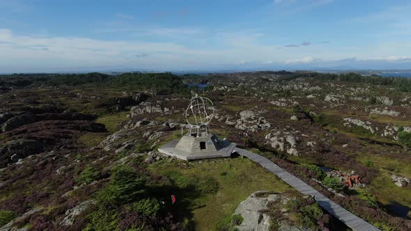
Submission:
<svg viewBox="0 0 411 231">
<path fill-rule="evenodd" d="M 247 161 L 159 154 L 186 129 L 194 93 L 217 106 L 212 133 L 381 230 L 409 230 L 411 89 L 401 81 L 284 71 L 0 77 L 0 230 L 345 229 Z"/>
</svg>

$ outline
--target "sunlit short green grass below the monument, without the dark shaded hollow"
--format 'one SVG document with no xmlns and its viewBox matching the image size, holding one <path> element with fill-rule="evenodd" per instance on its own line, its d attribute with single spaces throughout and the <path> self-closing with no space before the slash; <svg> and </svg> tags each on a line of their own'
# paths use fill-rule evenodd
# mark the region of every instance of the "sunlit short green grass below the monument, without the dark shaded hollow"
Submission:
<svg viewBox="0 0 411 231">
<path fill-rule="evenodd" d="M 165 175 L 173 169 L 173 172 L 178 171 L 180 175 L 187 177 L 208 176 L 217 180 L 219 184 L 217 193 L 201 194 L 199 198 L 189 202 L 196 230 L 213 230 L 217 223 L 231 216 L 240 202 L 254 191 L 281 193 L 291 189 L 288 184 L 249 159 L 214 159 L 202 161 L 201 164 L 194 161 L 189 163 L 189 168 L 181 167 L 179 163 L 181 161 L 159 161 L 149 168 L 154 173 Z"/>
</svg>

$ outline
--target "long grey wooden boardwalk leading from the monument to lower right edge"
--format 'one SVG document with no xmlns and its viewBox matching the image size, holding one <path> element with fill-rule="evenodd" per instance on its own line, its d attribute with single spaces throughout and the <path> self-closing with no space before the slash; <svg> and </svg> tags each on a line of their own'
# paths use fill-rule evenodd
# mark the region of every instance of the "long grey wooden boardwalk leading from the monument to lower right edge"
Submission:
<svg viewBox="0 0 411 231">
<path fill-rule="evenodd" d="M 323 207 L 323 209 L 327 210 L 329 214 L 332 214 L 333 216 L 338 218 L 340 221 L 345 223 L 352 230 L 357 230 L 357 231 L 378 230 L 378 228 L 375 228 L 370 223 L 362 220 L 362 218 L 355 216 L 354 214 L 352 214 L 351 212 L 348 212 L 343 207 L 337 205 L 332 200 L 329 200 L 328 198 L 323 196 L 323 194 L 316 191 L 316 189 L 313 189 L 313 187 L 309 186 L 308 184 L 306 184 L 299 178 L 295 177 L 294 175 L 291 175 L 283 168 L 280 168 L 279 166 L 277 166 L 277 164 L 274 164 L 269 159 L 265 157 L 261 157 L 260 155 L 255 154 L 253 152 L 243 150 L 241 148 L 235 148 L 235 152 L 240 154 L 242 157 L 247 157 L 248 159 L 256 161 L 258 164 L 263 166 L 263 168 L 274 173 L 279 178 L 281 178 L 281 180 L 284 180 L 287 184 L 290 184 L 290 186 L 293 186 L 295 189 L 297 189 L 301 193 L 304 193 L 309 196 L 314 196 L 318 202 L 318 205 Z"/>
</svg>

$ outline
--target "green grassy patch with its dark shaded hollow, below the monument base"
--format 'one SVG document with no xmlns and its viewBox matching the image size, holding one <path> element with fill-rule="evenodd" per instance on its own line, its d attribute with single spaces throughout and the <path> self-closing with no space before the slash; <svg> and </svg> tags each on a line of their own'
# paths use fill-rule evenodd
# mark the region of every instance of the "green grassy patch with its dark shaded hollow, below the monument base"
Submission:
<svg viewBox="0 0 411 231">
<path fill-rule="evenodd" d="M 258 190 L 283 192 L 290 186 L 248 159 L 193 161 L 162 160 L 149 166 L 153 173 L 167 175 L 178 203 L 187 204 L 196 230 L 213 230 L 222 225 L 242 200 Z M 171 170 L 172 169 L 172 170 Z M 201 180 L 201 184 L 196 181 Z M 186 215 L 186 217 L 190 217 Z M 219 226 L 220 227 L 220 226 Z"/>
</svg>

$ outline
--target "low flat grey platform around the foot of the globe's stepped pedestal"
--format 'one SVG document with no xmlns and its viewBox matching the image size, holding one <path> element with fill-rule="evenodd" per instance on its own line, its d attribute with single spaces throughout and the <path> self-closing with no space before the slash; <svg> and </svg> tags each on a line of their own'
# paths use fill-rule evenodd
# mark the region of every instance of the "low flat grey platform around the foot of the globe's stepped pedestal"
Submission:
<svg viewBox="0 0 411 231">
<path fill-rule="evenodd" d="M 231 143 L 228 141 L 219 141 L 222 144 L 222 148 L 217 151 L 212 150 L 196 150 L 195 152 L 185 152 L 176 148 L 179 140 L 173 140 L 166 143 L 161 148 L 158 149 L 159 152 L 167 154 L 172 157 L 177 157 L 179 159 L 185 159 L 187 161 L 196 159 L 210 159 L 210 158 L 222 158 L 230 157 L 233 150 L 237 146 L 236 143 Z"/>
</svg>

